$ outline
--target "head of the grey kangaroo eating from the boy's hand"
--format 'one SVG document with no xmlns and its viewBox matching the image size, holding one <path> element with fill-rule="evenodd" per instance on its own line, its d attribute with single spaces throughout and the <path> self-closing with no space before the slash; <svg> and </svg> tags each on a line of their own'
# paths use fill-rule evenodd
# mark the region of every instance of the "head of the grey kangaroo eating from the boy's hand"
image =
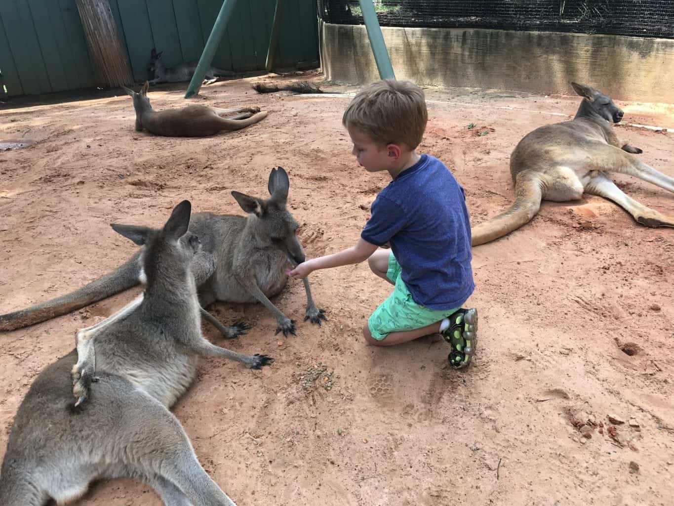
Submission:
<svg viewBox="0 0 674 506">
<path fill-rule="evenodd" d="M 270 194 L 267 200 L 240 192 L 232 192 L 232 196 L 246 213 L 255 216 L 257 246 L 276 248 L 288 257 L 291 264 L 300 264 L 305 256 L 297 239 L 299 225 L 286 209 L 290 180 L 283 167 L 272 169 L 267 188 Z"/>
</svg>

